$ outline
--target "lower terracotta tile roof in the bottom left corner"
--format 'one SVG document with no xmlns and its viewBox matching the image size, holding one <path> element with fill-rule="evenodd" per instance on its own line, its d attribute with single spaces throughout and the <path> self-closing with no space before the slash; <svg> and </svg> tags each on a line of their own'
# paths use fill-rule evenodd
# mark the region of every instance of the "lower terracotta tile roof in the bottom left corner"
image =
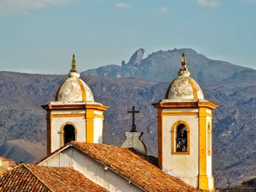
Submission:
<svg viewBox="0 0 256 192">
<path fill-rule="evenodd" d="M 107 191 L 72 168 L 20 164 L 0 175 L 0 191 Z"/>
</svg>

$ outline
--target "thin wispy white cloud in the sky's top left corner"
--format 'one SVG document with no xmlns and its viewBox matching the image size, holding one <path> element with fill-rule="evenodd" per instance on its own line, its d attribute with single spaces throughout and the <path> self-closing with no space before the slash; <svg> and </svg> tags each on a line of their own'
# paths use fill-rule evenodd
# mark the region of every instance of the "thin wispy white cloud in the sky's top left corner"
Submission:
<svg viewBox="0 0 256 192">
<path fill-rule="evenodd" d="M 48 5 L 63 4 L 73 0 L 0 0 L 1 15 L 25 14 Z"/>
</svg>

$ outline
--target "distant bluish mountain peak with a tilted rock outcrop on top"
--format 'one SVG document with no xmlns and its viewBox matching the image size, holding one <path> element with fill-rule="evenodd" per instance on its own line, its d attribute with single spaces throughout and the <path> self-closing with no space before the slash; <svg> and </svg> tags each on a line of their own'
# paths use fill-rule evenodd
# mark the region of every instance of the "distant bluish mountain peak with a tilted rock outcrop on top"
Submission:
<svg viewBox="0 0 256 192">
<path fill-rule="evenodd" d="M 121 66 L 108 65 L 100 66 L 97 69 L 89 69 L 82 74 L 101 77 L 137 77 L 146 80 L 156 80 L 159 82 L 169 82 L 176 77 L 176 72 L 181 63 L 181 55 L 187 55 L 187 66 L 192 77 L 199 83 L 217 82 L 232 76 L 235 72 L 243 70 L 253 70 L 245 66 L 230 64 L 226 61 L 212 60 L 203 54 L 197 53 L 190 48 L 159 50 L 143 58 L 145 50 L 140 48 L 129 62 L 121 62 Z M 135 61 L 139 58 L 138 61 Z M 217 72 L 217 69 L 221 69 Z"/>
</svg>

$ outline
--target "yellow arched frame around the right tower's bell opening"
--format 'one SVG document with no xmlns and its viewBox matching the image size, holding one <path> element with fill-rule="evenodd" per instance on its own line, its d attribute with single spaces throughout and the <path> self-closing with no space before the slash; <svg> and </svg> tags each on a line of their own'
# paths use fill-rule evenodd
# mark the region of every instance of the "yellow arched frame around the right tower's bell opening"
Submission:
<svg viewBox="0 0 256 192">
<path fill-rule="evenodd" d="M 187 127 L 187 151 L 184 152 L 176 152 L 175 151 L 175 139 L 176 139 L 176 128 L 178 125 L 184 124 Z M 189 155 L 190 154 L 190 128 L 189 124 L 184 120 L 178 120 L 173 124 L 171 128 L 171 154 L 172 155 Z"/>
</svg>

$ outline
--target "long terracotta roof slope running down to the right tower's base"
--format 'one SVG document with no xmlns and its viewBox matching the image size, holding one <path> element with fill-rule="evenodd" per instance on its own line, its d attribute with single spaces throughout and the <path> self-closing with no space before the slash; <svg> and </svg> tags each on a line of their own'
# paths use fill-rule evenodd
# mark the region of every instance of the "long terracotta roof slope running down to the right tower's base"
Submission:
<svg viewBox="0 0 256 192">
<path fill-rule="evenodd" d="M 87 142 L 71 145 L 146 191 L 197 191 L 126 148 Z"/>
</svg>

